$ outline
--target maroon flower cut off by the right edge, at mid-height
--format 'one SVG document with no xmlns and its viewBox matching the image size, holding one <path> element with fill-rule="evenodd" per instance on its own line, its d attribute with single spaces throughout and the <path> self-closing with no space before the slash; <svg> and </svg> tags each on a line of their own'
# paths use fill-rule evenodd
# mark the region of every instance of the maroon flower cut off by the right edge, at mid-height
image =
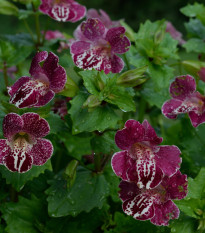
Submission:
<svg viewBox="0 0 205 233">
<path fill-rule="evenodd" d="M 195 79 L 190 75 L 176 77 L 170 85 L 171 100 L 162 106 L 162 113 L 170 119 L 189 113 L 194 127 L 205 122 L 205 96 L 196 91 Z"/>
</svg>

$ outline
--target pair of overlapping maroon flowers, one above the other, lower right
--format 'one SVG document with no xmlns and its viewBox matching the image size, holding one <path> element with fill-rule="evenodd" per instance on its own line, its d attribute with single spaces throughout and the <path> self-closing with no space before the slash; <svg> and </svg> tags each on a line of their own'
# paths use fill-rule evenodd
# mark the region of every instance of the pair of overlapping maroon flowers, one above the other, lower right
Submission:
<svg viewBox="0 0 205 233">
<path fill-rule="evenodd" d="M 186 175 L 179 172 L 181 158 L 176 146 L 159 146 L 158 137 L 147 120 L 128 120 L 116 133 L 122 150 L 112 157 L 112 168 L 120 183 L 120 198 L 126 214 L 138 220 L 150 219 L 168 225 L 178 218 L 179 209 L 171 201 L 187 193 Z"/>
</svg>

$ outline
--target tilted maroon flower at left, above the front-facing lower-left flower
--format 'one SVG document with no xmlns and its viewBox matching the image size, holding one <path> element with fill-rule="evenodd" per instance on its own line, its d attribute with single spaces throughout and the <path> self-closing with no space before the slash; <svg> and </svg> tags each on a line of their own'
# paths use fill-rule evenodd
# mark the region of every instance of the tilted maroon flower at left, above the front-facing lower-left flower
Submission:
<svg viewBox="0 0 205 233">
<path fill-rule="evenodd" d="M 10 103 L 27 108 L 40 107 L 51 101 L 55 93 L 63 90 L 67 80 L 66 71 L 58 61 L 52 52 L 37 53 L 31 63 L 31 77 L 21 77 L 8 87 Z"/>
</svg>

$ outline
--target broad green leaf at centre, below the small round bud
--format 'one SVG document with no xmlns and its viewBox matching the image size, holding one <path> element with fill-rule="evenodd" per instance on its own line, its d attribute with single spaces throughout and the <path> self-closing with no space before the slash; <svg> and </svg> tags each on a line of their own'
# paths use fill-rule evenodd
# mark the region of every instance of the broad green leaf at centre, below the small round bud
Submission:
<svg viewBox="0 0 205 233">
<path fill-rule="evenodd" d="M 80 92 L 70 101 L 72 106 L 68 112 L 71 114 L 73 121 L 73 134 L 115 128 L 120 117 L 108 104 L 96 107 L 90 112 L 88 112 L 88 109 L 82 108 L 88 96 L 87 93 Z"/>
</svg>

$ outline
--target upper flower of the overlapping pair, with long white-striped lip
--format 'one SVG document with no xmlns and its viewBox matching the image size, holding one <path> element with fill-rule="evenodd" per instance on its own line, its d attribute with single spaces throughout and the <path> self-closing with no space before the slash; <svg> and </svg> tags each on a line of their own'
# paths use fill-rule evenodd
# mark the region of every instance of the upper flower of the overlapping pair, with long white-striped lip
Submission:
<svg viewBox="0 0 205 233">
<path fill-rule="evenodd" d="M 123 150 L 112 157 L 115 174 L 139 188 L 152 189 L 164 175 L 172 176 L 180 167 L 180 150 L 176 146 L 158 146 L 158 137 L 147 120 L 142 124 L 128 120 L 125 128 L 115 135 L 117 146 Z"/>
</svg>

